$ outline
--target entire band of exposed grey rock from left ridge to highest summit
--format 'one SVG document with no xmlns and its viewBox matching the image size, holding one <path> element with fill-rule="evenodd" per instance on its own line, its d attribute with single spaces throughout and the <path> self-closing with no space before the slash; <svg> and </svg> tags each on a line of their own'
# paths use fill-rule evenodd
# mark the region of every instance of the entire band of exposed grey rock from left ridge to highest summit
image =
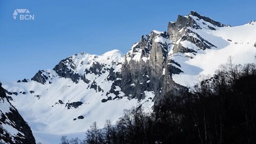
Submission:
<svg viewBox="0 0 256 144">
<path fill-rule="evenodd" d="M 183 72 L 179 63 L 171 58 L 173 54 L 190 53 L 185 56 L 193 58 L 198 50 L 217 47 L 197 34 L 195 29 L 216 30 L 225 26 L 191 11 L 186 16 L 178 15 L 177 21 L 169 22 L 167 31 L 153 30 L 151 34 L 142 36 L 125 54 L 123 60 L 120 60 L 121 57 L 113 59 L 113 54 L 110 54 L 110 57 L 109 53 L 103 54 L 104 57 L 109 57 L 105 61 L 110 60 L 106 64 L 104 60 L 101 61 L 102 56 L 75 54 L 61 60 L 52 71 L 39 70 L 32 80 L 41 84 L 47 81 L 51 83 L 49 79 L 54 76 L 70 78 L 74 83 L 83 81 L 88 84 L 87 89 L 94 89 L 95 92 L 107 91 L 107 98 L 103 98 L 102 102 L 122 97 L 141 100 L 146 97 L 146 92 L 153 92 L 156 100 L 170 91 L 187 90 L 172 80 L 173 74 Z M 196 48 L 183 43 L 190 43 Z M 90 75 L 97 77 L 106 73 L 106 80 L 113 82 L 107 90 L 102 89 L 95 79 L 90 78 Z"/>
</svg>

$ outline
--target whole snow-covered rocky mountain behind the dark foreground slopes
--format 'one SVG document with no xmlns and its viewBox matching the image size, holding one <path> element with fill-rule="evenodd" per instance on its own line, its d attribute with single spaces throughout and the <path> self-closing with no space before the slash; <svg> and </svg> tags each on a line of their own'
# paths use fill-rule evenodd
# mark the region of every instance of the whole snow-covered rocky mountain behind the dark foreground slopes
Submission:
<svg viewBox="0 0 256 144">
<path fill-rule="evenodd" d="M 75 54 L 31 79 L 3 86 L 37 140 L 46 141 L 47 134 L 59 139 L 85 132 L 94 121 L 99 127 L 106 119 L 116 121 L 123 109 L 153 111 L 166 93 L 193 89 L 229 57 L 253 62 L 255 42 L 255 21 L 231 27 L 192 11 L 169 22 L 167 31 L 143 35 L 124 55 L 118 50 Z"/>
</svg>

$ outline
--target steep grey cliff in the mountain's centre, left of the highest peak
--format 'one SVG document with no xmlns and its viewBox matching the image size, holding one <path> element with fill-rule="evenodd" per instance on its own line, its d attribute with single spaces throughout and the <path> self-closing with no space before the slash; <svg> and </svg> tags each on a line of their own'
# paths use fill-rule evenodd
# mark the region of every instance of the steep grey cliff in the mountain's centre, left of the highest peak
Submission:
<svg viewBox="0 0 256 144">
<path fill-rule="evenodd" d="M 174 88 L 171 74 L 180 71 L 175 71 L 167 65 L 171 47 L 169 35 L 155 30 L 150 35 L 142 36 L 141 41 L 132 46 L 125 55 L 121 73 L 123 81 L 119 84 L 130 99 L 145 98 L 145 91 L 162 95 Z M 166 89 L 163 89 L 164 85 Z"/>
</svg>

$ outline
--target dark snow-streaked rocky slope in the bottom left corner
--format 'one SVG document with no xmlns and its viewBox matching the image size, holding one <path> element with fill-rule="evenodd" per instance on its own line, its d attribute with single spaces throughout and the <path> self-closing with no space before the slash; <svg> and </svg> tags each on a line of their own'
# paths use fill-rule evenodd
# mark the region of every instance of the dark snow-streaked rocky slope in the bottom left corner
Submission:
<svg viewBox="0 0 256 144">
<path fill-rule="evenodd" d="M 0 141 L 4 143 L 36 143 L 28 124 L 20 116 L 0 86 Z"/>
</svg>

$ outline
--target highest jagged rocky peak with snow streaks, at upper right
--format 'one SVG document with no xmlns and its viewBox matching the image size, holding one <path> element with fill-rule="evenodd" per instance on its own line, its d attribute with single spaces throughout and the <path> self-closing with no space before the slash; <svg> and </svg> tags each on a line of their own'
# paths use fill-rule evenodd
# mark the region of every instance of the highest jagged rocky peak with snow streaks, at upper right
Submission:
<svg viewBox="0 0 256 144">
<path fill-rule="evenodd" d="M 216 30 L 226 25 L 204 17 L 195 11 L 191 11 L 186 16 L 178 16 L 176 22 L 169 22 L 168 34 L 173 42 L 173 53 L 197 53 L 198 50 L 211 49 L 216 47 L 211 42 L 200 36 L 197 31 L 201 29 Z M 196 47 L 188 47 L 185 43 L 191 43 Z"/>
</svg>

